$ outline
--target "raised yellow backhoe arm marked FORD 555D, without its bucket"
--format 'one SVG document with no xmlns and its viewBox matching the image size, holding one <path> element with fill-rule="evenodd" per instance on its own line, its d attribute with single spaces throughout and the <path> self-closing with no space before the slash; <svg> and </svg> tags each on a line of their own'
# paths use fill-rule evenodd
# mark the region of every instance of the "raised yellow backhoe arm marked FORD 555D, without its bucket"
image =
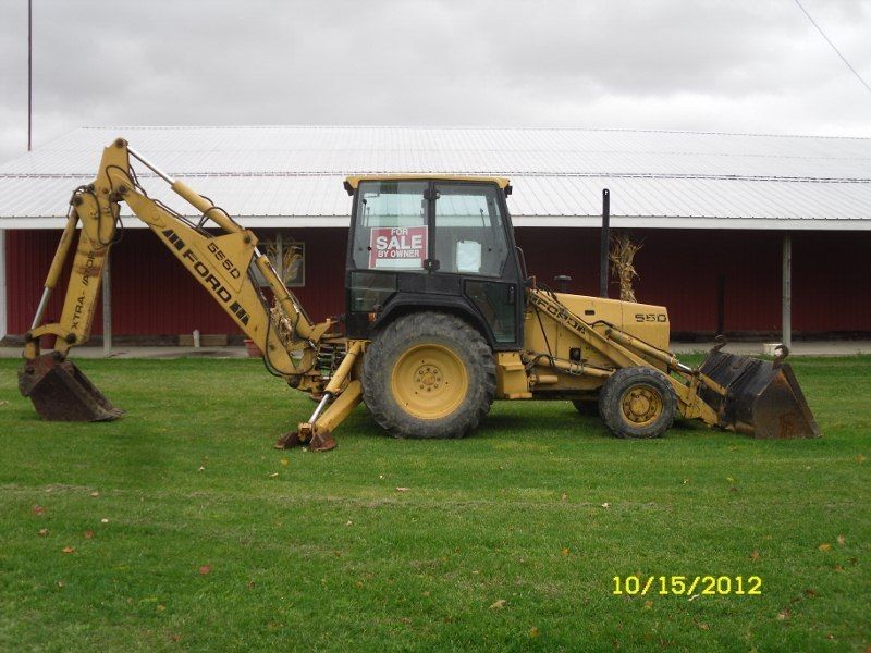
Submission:
<svg viewBox="0 0 871 653">
<path fill-rule="evenodd" d="M 194 224 L 155 200 L 139 186 L 131 169 L 131 157 L 163 178 L 171 188 L 203 215 Z M 226 212 L 191 189 L 183 182 L 149 163 L 119 138 L 103 150 L 95 182 L 76 189 L 54 259 L 46 279 L 33 328 L 27 334 L 25 358 L 39 356 L 39 337 L 56 335 L 54 349 L 65 357 L 70 347 L 88 340 L 100 287 L 100 272 L 106 256 L 115 242 L 119 202 L 131 210 L 157 234 L 187 271 L 209 292 L 233 321 L 263 352 L 275 373 L 297 385 L 303 375 L 314 371 L 317 344 L 332 325 L 330 320 L 312 324 L 296 297 L 279 279 L 269 259 L 257 248 L 257 237 Z M 203 229 L 210 220 L 223 234 L 213 235 Z M 81 234 L 64 299 L 61 319 L 40 325 L 48 298 L 58 283 L 69 255 L 76 226 Z M 250 273 L 252 264 L 274 294 L 282 322 L 290 330 L 277 326 L 260 289 Z"/>
</svg>

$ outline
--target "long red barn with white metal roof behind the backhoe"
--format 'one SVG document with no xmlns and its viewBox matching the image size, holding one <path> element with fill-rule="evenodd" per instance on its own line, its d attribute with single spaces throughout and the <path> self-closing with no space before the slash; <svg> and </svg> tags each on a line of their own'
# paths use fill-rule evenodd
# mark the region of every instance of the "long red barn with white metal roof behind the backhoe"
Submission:
<svg viewBox="0 0 871 653">
<path fill-rule="evenodd" d="M 0 335 L 27 331 L 76 186 L 124 136 L 252 227 L 315 319 L 341 313 L 348 174 L 507 176 L 517 242 L 539 280 L 599 284 L 601 192 L 611 225 L 643 247 L 636 295 L 679 337 L 871 334 L 871 139 L 560 128 L 82 128 L 0 165 Z M 198 219 L 147 170 L 152 196 Z M 146 174 L 148 173 L 148 174 Z M 112 250 L 115 342 L 238 336 L 144 224 Z M 281 252 L 280 255 L 278 252 Z M 612 295 L 616 288 L 612 288 Z M 58 295 L 62 295 L 59 293 Z M 789 301 L 785 301 L 788 299 Z M 57 317 L 56 297 L 48 317 Z M 99 342 L 101 316 L 94 324 Z"/>
</svg>

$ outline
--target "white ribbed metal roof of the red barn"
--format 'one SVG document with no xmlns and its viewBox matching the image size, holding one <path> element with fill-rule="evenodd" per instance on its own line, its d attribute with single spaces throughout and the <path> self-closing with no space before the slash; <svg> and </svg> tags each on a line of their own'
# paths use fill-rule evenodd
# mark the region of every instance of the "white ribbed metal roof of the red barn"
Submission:
<svg viewBox="0 0 871 653">
<path fill-rule="evenodd" d="M 518 226 L 598 225 L 608 187 L 615 226 L 871 230 L 869 138 L 311 126 L 76 130 L 0 165 L 0 227 L 62 226 L 72 189 L 118 136 L 248 226 L 344 226 L 345 176 L 408 172 L 507 176 Z"/>
</svg>

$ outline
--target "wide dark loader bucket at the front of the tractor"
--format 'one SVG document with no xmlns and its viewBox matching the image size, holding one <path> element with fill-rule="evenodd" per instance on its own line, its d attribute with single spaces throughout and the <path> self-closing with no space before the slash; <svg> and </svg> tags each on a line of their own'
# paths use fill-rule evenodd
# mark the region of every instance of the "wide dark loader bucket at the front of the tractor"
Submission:
<svg viewBox="0 0 871 653">
<path fill-rule="evenodd" d="M 784 348 L 785 349 L 785 348 Z M 755 438 L 819 438 L 820 427 L 788 364 L 714 349 L 700 371 L 726 389 L 703 387 L 699 396 L 716 410 L 720 427 Z"/>
</svg>

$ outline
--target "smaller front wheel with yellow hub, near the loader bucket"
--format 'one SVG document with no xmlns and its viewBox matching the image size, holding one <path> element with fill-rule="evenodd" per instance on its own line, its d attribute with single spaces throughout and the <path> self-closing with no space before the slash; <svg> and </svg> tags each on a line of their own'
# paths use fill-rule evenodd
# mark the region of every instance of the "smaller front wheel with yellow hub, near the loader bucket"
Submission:
<svg viewBox="0 0 871 653">
<path fill-rule="evenodd" d="M 676 411 L 674 387 L 651 368 L 619 369 L 599 393 L 599 414 L 617 438 L 660 438 L 672 428 Z"/>
</svg>

